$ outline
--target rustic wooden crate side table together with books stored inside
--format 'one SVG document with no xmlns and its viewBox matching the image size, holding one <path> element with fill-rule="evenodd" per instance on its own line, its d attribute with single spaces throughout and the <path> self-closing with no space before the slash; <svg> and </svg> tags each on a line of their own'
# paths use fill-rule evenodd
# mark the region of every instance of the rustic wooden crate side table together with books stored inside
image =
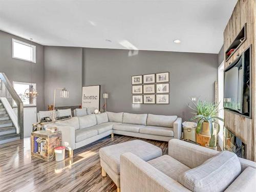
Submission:
<svg viewBox="0 0 256 192">
<path fill-rule="evenodd" d="M 61 131 L 36 131 L 31 133 L 31 156 L 50 161 L 54 159 L 54 148 L 61 145 Z"/>
</svg>

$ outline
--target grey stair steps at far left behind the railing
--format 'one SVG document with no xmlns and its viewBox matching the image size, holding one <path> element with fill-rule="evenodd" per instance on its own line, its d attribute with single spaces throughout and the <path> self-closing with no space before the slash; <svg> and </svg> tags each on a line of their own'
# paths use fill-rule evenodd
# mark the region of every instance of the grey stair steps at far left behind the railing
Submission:
<svg viewBox="0 0 256 192">
<path fill-rule="evenodd" d="M 16 134 L 16 128 L 0 100 L 0 144 L 18 140 L 19 137 L 20 135 Z"/>
</svg>

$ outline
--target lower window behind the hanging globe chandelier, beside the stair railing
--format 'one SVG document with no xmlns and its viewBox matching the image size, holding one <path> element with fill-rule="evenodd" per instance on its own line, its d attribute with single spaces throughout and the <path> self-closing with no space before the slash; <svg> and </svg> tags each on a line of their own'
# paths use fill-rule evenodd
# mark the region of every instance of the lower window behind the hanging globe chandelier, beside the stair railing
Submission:
<svg viewBox="0 0 256 192">
<path fill-rule="evenodd" d="M 30 98 L 28 99 L 25 97 L 25 91 L 31 87 L 33 87 L 36 90 L 36 83 L 30 83 L 30 82 L 16 82 L 13 81 L 13 88 L 18 94 L 19 98 L 22 99 L 24 106 L 36 106 L 36 98 Z M 17 104 L 12 101 L 13 106 L 17 106 Z"/>
</svg>

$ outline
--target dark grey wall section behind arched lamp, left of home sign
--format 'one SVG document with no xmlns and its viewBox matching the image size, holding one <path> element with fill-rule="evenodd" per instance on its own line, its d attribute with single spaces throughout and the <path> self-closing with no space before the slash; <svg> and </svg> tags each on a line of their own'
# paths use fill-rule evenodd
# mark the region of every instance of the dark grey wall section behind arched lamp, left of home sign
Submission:
<svg viewBox="0 0 256 192">
<path fill-rule="evenodd" d="M 69 98 L 59 97 L 56 91 L 56 106 L 81 104 L 82 48 L 45 46 L 45 107 L 53 104 L 54 89 L 65 87 Z"/>
</svg>

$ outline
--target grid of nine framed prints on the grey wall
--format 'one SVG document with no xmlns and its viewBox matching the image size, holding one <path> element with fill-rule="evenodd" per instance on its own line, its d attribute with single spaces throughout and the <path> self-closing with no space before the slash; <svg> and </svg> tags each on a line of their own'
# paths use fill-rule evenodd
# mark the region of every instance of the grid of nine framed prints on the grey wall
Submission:
<svg viewBox="0 0 256 192">
<path fill-rule="evenodd" d="M 170 73 L 132 76 L 133 104 L 169 104 Z"/>
</svg>

